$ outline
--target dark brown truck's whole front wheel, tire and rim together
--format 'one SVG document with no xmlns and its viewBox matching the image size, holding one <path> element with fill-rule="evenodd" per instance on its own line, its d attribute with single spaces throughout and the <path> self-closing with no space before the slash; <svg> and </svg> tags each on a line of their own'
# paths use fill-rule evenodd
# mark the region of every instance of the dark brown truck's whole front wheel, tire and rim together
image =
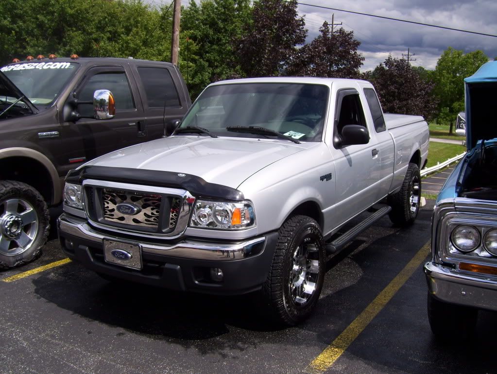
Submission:
<svg viewBox="0 0 497 374">
<path fill-rule="evenodd" d="M 0 269 L 34 260 L 50 228 L 47 204 L 26 183 L 0 181 Z"/>
</svg>

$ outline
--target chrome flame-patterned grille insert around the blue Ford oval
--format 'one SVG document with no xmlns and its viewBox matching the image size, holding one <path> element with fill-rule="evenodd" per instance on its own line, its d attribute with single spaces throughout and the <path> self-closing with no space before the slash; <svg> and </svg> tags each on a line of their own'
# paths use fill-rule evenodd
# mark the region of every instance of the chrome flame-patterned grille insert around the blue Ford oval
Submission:
<svg viewBox="0 0 497 374">
<path fill-rule="evenodd" d="M 103 217 L 107 221 L 144 227 L 159 226 L 161 195 L 149 195 L 139 192 L 104 188 L 102 190 L 102 204 L 104 212 Z M 123 214 L 117 209 L 121 204 L 135 206 L 139 209 L 139 212 L 135 215 Z"/>
</svg>

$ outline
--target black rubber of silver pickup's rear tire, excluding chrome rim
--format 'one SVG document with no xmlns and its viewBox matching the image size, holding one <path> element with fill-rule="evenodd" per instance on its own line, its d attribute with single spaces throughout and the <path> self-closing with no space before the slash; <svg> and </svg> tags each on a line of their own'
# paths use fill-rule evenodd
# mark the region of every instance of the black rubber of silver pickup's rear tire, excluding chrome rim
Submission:
<svg viewBox="0 0 497 374">
<path fill-rule="evenodd" d="M 409 163 L 406 177 L 402 183 L 402 187 L 399 192 L 390 195 L 388 197 L 388 205 L 392 207 L 392 210 L 388 214 L 390 221 L 393 224 L 397 224 L 400 226 L 409 226 L 414 223 L 417 215 L 419 214 L 419 207 L 416 216 L 411 215 L 411 207 L 408 203 L 410 197 L 410 185 L 413 174 L 417 173 L 417 177 L 419 180 L 419 198 L 421 198 L 421 178 L 419 175 L 419 168 L 413 162 Z"/>
</svg>

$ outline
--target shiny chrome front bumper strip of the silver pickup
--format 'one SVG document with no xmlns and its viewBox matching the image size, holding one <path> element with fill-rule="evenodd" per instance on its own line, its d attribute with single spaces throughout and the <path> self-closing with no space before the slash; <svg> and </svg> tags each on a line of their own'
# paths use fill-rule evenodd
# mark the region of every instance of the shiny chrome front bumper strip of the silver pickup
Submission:
<svg viewBox="0 0 497 374">
<path fill-rule="evenodd" d="M 138 240 L 122 239 L 112 234 L 102 234 L 95 231 L 86 221 L 69 217 L 63 214 L 59 217 L 58 227 L 60 233 L 76 236 L 80 239 L 101 244 L 103 239 L 111 239 L 124 242 L 134 242 L 142 247 L 142 252 L 166 255 L 171 257 L 181 257 L 197 260 L 215 260 L 215 261 L 233 261 L 241 260 L 255 254 L 258 254 L 264 247 L 266 240 L 265 236 L 257 237 L 254 239 L 227 244 L 214 244 L 196 242 L 193 240 L 184 240 L 176 244 L 165 245 L 144 242 L 139 238 Z"/>
</svg>

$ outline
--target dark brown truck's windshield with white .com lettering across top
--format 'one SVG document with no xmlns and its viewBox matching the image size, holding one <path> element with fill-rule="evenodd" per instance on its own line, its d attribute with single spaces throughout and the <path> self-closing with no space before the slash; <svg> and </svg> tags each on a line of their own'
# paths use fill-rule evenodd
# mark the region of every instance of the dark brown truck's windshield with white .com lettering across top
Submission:
<svg viewBox="0 0 497 374">
<path fill-rule="evenodd" d="M 79 64 L 37 62 L 7 65 L 0 69 L 36 106 L 51 105 Z M 10 101 L 11 98 L 3 99 Z"/>
</svg>

